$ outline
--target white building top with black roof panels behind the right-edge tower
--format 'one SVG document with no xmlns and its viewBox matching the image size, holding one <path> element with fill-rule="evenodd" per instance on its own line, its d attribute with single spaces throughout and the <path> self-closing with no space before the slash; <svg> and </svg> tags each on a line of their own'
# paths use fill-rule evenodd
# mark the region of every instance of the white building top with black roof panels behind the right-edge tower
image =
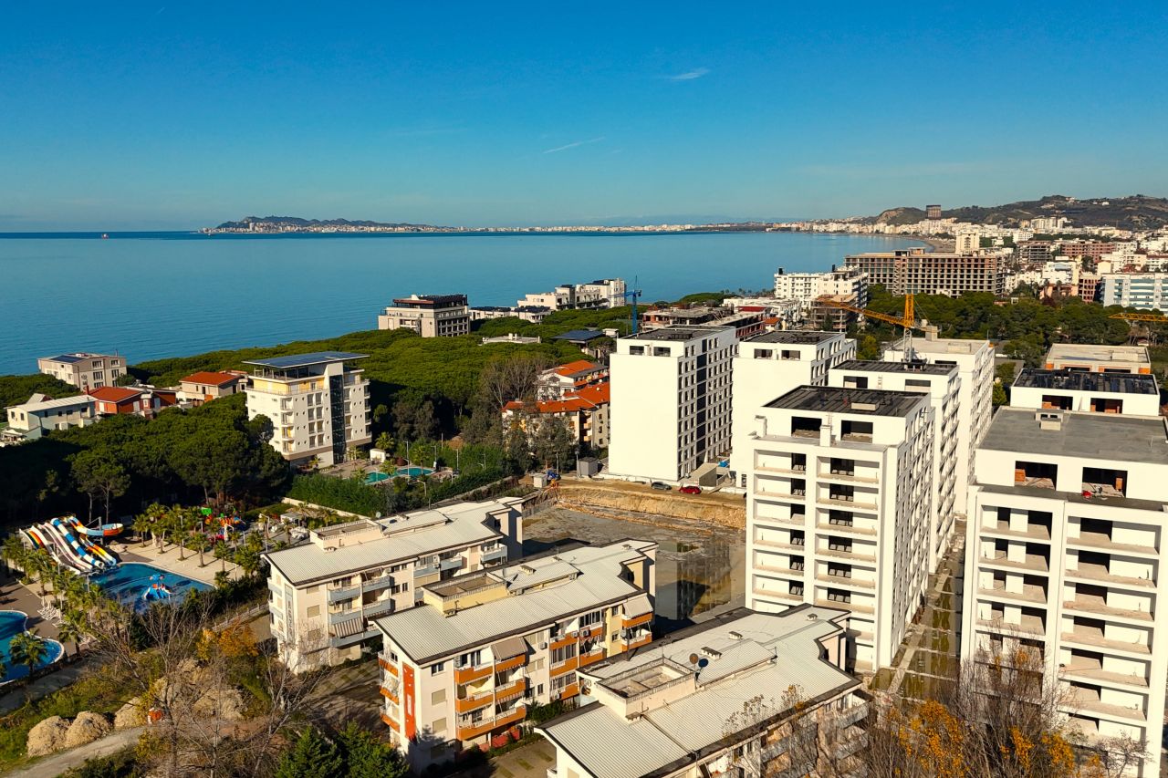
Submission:
<svg viewBox="0 0 1168 778">
<path fill-rule="evenodd" d="M 1085 414 L 1157 416 L 1160 388 L 1150 375 L 1024 368 L 1010 388 L 1010 405 Z"/>
</svg>

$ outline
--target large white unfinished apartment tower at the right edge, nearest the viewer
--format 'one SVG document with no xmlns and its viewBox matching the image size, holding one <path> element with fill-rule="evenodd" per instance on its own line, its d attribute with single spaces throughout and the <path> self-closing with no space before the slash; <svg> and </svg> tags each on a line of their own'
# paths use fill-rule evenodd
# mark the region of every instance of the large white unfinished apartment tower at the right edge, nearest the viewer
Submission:
<svg viewBox="0 0 1168 778">
<path fill-rule="evenodd" d="M 969 493 L 961 655 L 1041 660 L 1089 744 L 1159 776 L 1168 682 L 1162 418 L 1001 408 Z"/>
</svg>

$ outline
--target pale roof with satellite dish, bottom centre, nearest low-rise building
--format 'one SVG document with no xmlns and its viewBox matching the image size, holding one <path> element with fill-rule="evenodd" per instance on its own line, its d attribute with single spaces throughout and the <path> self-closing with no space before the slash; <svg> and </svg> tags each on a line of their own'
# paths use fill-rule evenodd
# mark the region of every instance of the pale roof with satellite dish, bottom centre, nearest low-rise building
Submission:
<svg viewBox="0 0 1168 778">
<path fill-rule="evenodd" d="M 758 723 L 759 717 L 745 720 L 744 708 L 762 708 L 763 721 L 780 720 L 795 702 L 832 699 L 860 687 L 858 680 L 820 657 L 821 641 L 842 631 L 836 619 L 844 616 L 808 605 L 783 613 L 736 609 L 579 673 L 624 701 L 673 685 L 688 685 L 688 693 L 670 692 L 668 703 L 638 701 L 637 715 L 630 717 L 597 701 L 540 729 L 589 774 L 672 773 Z M 696 666 L 690 662 L 695 657 Z M 792 687 L 801 692 L 799 700 L 784 699 Z"/>
</svg>

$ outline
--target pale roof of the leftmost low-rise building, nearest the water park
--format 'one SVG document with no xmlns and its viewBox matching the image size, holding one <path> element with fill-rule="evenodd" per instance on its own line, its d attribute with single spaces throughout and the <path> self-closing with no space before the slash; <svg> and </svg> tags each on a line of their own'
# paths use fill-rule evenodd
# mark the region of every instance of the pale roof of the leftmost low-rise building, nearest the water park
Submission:
<svg viewBox="0 0 1168 778">
<path fill-rule="evenodd" d="M 376 522 L 367 519 L 325 527 L 314 533 L 319 543 L 270 551 L 267 561 L 294 585 L 327 581 L 499 537 L 484 522 L 489 513 L 508 506 L 506 500 L 461 502 Z M 350 541 L 352 544 L 338 542 L 338 536 L 345 534 L 361 537 Z M 326 548 L 331 546 L 334 548 Z"/>
</svg>

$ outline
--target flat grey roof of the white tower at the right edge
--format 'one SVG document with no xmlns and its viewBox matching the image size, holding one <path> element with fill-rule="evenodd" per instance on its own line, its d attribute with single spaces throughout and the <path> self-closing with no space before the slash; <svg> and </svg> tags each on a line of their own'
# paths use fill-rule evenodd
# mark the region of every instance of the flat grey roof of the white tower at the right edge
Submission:
<svg viewBox="0 0 1168 778">
<path fill-rule="evenodd" d="M 1059 429 L 1041 429 L 1036 418 L 1038 414 L 1061 416 Z M 999 408 L 979 447 L 1168 465 L 1168 429 L 1164 428 L 1164 419 L 1159 417 Z"/>
</svg>

